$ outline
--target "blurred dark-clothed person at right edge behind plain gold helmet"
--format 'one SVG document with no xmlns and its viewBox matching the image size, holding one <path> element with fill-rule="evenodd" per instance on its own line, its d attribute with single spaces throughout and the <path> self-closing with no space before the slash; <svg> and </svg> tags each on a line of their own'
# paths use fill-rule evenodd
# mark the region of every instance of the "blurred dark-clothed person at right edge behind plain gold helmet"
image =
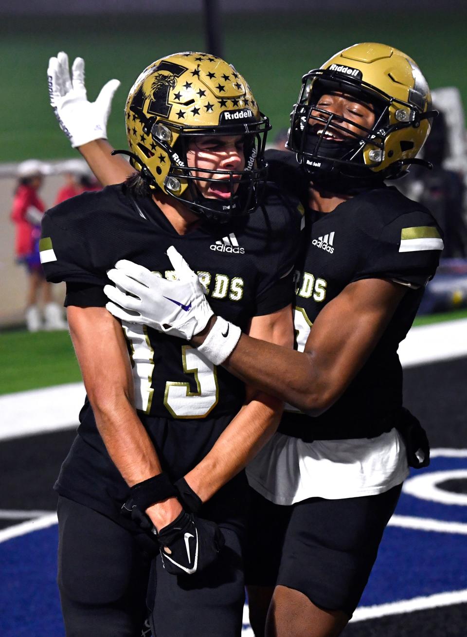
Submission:
<svg viewBox="0 0 467 637">
<path fill-rule="evenodd" d="M 442 227 L 443 259 L 465 258 L 464 182 L 459 173 L 443 167 L 448 154 L 448 132 L 445 116 L 440 112 L 423 147 L 423 157 L 433 164 L 433 170 L 421 170 L 415 166 L 407 183 L 401 185 L 408 197 L 424 204 Z"/>
</svg>

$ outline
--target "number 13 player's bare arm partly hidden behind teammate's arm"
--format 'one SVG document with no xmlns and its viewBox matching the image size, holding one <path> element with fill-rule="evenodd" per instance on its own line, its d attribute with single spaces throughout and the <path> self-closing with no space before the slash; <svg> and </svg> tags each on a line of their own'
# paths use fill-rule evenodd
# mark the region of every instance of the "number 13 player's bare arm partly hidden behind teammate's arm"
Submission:
<svg viewBox="0 0 467 637">
<path fill-rule="evenodd" d="M 249 332 L 291 348 L 290 306 L 271 315 L 253 318 Z M 247 388 L 247 403 L 219 436 L 212 450 L 185 476 L 203 501 L 241 471 L 266 444 L 277 429 L 282 408 L 279 399 Z"/>
</svg>

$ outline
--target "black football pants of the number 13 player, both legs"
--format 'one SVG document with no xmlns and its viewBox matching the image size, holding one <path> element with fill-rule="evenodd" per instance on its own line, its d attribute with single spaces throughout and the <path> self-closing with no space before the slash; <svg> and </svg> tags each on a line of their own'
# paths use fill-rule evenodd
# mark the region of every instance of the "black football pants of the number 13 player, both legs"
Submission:
<svg viewBox="0 0 467 637">
<path fill-rule="evenodd" d="M 231 527 L 219 525 L 226 538 L 219 559 L 202 573 L 177 577 L 101 513 L 61 496 L 58 516 L 66 637 L 140 637 L 147 606 L 154 637 L 240 637 L 243 564 Z"/>
</svg>

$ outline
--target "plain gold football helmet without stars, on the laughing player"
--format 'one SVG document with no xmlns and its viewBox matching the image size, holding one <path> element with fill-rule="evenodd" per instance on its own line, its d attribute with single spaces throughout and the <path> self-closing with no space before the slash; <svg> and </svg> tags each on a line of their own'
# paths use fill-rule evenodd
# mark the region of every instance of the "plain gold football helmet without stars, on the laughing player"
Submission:
<svg viewBox="0 0 467 637">
<path fill-rule="evenodd" d="M 332 92 L 371 104 L 373 127 L 316 106 L 322 95 Z M 312 178 L 333 175 L 350 182 L 367 178 L 370 183 L 375 176 L 393 179 L 405 175 L 410 163 L 427 165 L 414 158 L 436 114 L 427 82 L 408 55 L 383 44 L 356 44 L 303 76 L 287 147 Z M 343 122 L 358 132 L 349 131 Z M 326 140 L 329 127 L 343 131 L 345 141 Z"/>
</svg>

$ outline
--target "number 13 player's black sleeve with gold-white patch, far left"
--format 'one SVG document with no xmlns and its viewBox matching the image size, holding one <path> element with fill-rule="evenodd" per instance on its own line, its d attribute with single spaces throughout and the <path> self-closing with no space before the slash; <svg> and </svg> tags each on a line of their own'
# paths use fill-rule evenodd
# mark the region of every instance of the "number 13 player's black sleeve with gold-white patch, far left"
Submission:
<svg viewBox="0 0 467 637">
<path fill-rule="evenodd" d="M 76 224 L 67 223 L 70 215 L 52 208 L 43 215 L 40 240 L 41 264 L 52 283 L 75 281 L 105 285 L 105 273 L 92 265 L 89 242 Z"/>
</svg>

